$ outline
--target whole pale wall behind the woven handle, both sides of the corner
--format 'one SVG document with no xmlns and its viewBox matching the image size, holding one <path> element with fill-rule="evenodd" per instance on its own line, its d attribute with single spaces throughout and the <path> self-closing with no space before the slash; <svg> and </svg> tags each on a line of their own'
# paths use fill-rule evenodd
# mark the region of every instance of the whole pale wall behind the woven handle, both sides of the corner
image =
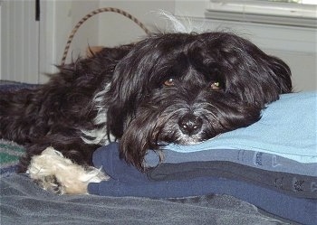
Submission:
<svg viewBox="0 0 317 225">
<path fill-rule="evenodd" d="M 54 65 L 61 64 L 64 46 L 68 41 L 73 27 L 82 17 L 102 7 L 117 7 L 138 17 L 151 30 L 162 26 L 154 11 L 165 9 L 174 11 L 174 1 L 42 1 L 41 44 L 40 44 L 40 83 L 46 82 L 45 73 L 56 72 Z M 156 24 L 159 22 L 158 24 Z M 115 46 L 135 42 L 144 37 L 145 33 L 139 26 L 121 14 L 105 12 L 95 14 L 81 25 L 75 33 L 66 62 L 85 56 L 89 46 Z"/>
</svg>

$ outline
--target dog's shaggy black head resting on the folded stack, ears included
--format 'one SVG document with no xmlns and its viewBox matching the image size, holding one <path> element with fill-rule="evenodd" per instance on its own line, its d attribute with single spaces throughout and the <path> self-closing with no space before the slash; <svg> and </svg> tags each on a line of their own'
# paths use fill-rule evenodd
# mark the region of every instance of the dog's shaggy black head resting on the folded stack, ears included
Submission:
<svg viewBox="0 0 317 225">
<path fill-rule="evenodd" d="M 138 42 L 116 66 L 108 130 L 142 167 L 148 149 L 195 144 L 260 118 L 290 92 L 290 70 L 231 33 L 161 34 Z"/>
</svg>

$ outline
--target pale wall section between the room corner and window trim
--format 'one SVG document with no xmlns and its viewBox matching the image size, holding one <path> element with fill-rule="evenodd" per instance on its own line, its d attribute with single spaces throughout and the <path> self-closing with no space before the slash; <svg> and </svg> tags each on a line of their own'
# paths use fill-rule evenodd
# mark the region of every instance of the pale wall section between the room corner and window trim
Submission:
<svg viewBox="0 0 317 225">
<path fill-rule="evenodd" d="M 110 1 L 101 0 L 100 7 L 116 7 L 127 11 L 144 23 L 150 31 L 156 31 L 165 26 L 165 21 L 159 19 L 159 10 L 175 11 L 174 0 L 141 0 L 141 1 Z M 99 16 L 99 40 L 104 46 L 115 46 L 138 41 L 145 36 L 143 30 L 128 18 L 113 13 L 103 13 Z"/>
</svg>

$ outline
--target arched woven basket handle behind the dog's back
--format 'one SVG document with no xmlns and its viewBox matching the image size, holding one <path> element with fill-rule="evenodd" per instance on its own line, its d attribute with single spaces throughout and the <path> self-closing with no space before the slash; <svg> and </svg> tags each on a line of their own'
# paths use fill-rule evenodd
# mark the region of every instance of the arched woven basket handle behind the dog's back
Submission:
<svg viewBox="0 0 317 225">
<path fill-rule="evenodd" d="M 119 8 L 112 8 L 112 7 L 106 7 L 106 8 L 100 8 L 100 9 L 96 9 L 94 11 L 92 11 L 90 14 L 86 14 L 84 17 L 82 17 L 82 20 L 80 20 L 72 29 L 72 33 L 70 34 L 70 36 L 68 37 L 68 40 L 66 42 L 66 46 L 64 48 L 63 54 L 62 54 L 62 65 L 65 64 L 66 58 L 67 58 L 67 54 L 68 51 L 70 49 L 71 43 L 72 43 L 72 38 L 75 35 L 75 33 L 78 31 L 78 29 L 81 27 L 82 23 L 85 23 L 86 20 L 88 20 L 89 18 L 91 18 L 91 16 L 95 15 L 95 14 L 100 14 L 100 13 L 104 13 L 104 12 L 112 12 L 112 13 L 117 13 L 117 14 L 122 14 L 125 17 L 129 18 L 131 21 L 133 21 L 134 23 L 137 23 L 139 25 L 139 27 L 149 35 L 149 30 L 147 29 L 147 27 L 139 22 L 139 20 L 134 17 L 133 15 L 127 13 L 124 10 L 121 10 Z"/>
</svg>

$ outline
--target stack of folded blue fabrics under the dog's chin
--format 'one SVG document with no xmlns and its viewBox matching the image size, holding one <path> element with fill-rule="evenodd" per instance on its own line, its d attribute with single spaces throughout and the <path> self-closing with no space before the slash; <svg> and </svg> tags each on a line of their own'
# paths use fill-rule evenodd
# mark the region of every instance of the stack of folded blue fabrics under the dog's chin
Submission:
<svg viewBox="0 0 317 225">
<path fill-rule="evenodd" d="M 264 109 L 254 125 L 197 145 L 150 151 L 146 173 L 120 160 L 119 144 L 93 155 L 110 181 L 91 183 L 104 196 L 180 198 L 227 194 L 287 220 L 317 224 L 317 93 L 292 93 Z"/>
</svg>

